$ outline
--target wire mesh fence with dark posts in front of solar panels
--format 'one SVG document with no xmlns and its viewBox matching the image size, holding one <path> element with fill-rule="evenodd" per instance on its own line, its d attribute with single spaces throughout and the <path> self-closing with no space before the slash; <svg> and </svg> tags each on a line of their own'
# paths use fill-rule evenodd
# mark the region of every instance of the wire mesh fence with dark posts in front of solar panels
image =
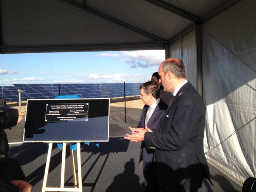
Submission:
<svg viewBox="0 0 256 192">
<path fill-rule="evenodd" d="M 110 116 L 122 122 L 138 123 L 141 109 L 142 82 L 90 84 L 14 84 L 2 86 L 0 95 L 7 105 L 26 114 L 27 99 L 54 99 L 57 95 L 79 95 L 80 98 L 110 98 Z"/>
</svg>

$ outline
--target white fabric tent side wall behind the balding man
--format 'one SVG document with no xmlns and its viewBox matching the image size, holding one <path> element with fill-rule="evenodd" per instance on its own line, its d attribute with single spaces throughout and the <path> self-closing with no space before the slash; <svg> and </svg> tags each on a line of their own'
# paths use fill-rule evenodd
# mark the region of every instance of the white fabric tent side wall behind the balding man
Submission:
<svg viewBox="0 0 256 192">
<path fill-rule="evenodd" d="M 243 0 L 203 25 L 204 149 L 209 162 L 242 184 L 256 177 L 256 1 Z M 193 35 L 191 35 L 193 34 Z M 189 36 L 190 43 L 185 41 Z M 191 32 L 170 46 L 196 87 Z M 194 43 L 194 44 L 193 44 Z M 187 48 L 191 51 L 186 51 Z M 197 87 L 196 87 L 197 88 Z"/>
</svg>

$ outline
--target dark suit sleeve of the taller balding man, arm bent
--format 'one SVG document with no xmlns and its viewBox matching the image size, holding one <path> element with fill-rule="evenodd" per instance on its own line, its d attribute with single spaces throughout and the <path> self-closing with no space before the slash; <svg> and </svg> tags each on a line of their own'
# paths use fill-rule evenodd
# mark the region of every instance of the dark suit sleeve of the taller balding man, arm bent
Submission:
<svg viewBox="0 0 256 192">
<path fill-rule="evenodd" d="M 175 151 L 182 149 L 189 139 L 196 136 L 199 112 L 189 99 L 177 103 L 171 116 L 164 117 L 159 132 L 146 132 L 144 140 L 148 148 Z"/>
</svg>

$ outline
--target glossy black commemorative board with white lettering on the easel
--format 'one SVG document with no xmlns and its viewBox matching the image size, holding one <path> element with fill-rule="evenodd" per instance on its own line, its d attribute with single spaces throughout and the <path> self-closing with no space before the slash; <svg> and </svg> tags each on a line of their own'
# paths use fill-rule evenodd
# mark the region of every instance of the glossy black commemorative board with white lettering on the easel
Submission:
<svg viewBox="0 0 256 192">
<path fill-rule="evenodd" d="M 28 99 L 23 141 L 108 141 L 109 101 Z"/>
</svg>

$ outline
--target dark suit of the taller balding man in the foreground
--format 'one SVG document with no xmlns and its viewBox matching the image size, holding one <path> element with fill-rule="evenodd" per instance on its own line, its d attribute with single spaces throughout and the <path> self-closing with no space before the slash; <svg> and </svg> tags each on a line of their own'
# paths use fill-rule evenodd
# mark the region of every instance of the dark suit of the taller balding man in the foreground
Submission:
<svg viewBox="0 0 256 192">
<path fill-rule="evenodd" d="M 187 82 L 166 110 L 157 132 L 146 132 L 145 144 L 155 147 L 157 180 L 164 191 L 197 191 L 209 168 L 204 155 L 205 105 Z"/>
</svg>

